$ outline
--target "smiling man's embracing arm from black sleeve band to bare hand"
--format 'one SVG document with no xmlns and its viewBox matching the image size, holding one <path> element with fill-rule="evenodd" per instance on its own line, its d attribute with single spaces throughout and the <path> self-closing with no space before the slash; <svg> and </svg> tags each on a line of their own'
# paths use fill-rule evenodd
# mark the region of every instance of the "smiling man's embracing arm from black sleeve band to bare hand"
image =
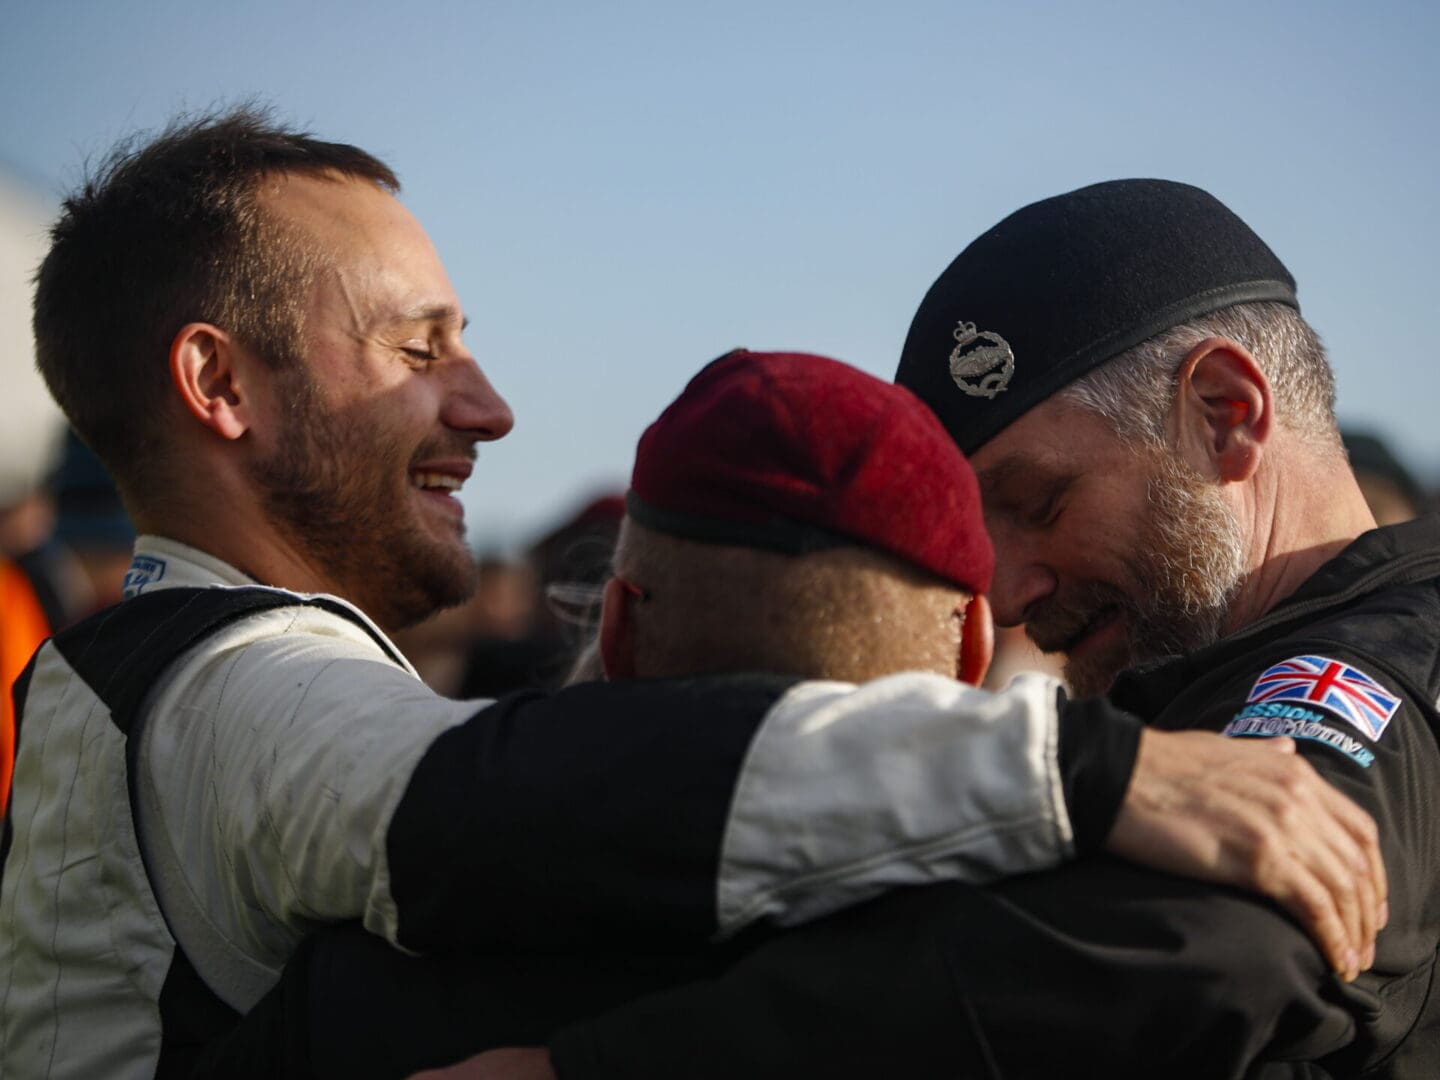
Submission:
<svg viewBox="0 0 1440 1080">
<path fill-rule="evenodd" d="M 1382 922 L 1377 831 L 1293 749 L 1143 730 L 1038 675 L 521 696 L 416 766 L 387 837 L 395 940 L 727 937 L 1109 850 L 1277 900 L 1354 975 Z"/>
</svg>

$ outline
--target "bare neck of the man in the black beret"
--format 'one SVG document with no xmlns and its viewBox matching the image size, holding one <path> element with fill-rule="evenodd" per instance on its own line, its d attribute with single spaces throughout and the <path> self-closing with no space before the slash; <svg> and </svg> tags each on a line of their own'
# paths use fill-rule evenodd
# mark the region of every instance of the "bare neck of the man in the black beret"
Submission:
<svg viewBox="0 0 1440 1080">
<path fill-rule="evenodd" d="M 1253 569 L 1230 605 L 1227 634 L 1263 616 L 1375 527 L 1345 459 L 1303 445 L 1272 454 L 1244 498 L 1247 505 L 1238 513 Z"/>
</svg>

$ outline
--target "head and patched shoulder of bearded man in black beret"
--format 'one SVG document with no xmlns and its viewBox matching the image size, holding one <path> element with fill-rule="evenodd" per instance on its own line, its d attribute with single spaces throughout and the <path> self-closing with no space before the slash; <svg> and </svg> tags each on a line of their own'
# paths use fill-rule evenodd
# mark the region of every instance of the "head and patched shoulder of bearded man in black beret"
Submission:
<svg viewBox="0 0 1440 1080">
<path fill-rule="evenodd" d="M 973 240 L 897 382 L 979 477 L 996 621 L 1153 726 L 1296 737 L 1381 822 L 1391 919 L 1336 1067 L 1433 1076 L 1440 526 L 1375 528 L 1289 271 L 1200 189 L 1094 184 Z"/>
</svg>

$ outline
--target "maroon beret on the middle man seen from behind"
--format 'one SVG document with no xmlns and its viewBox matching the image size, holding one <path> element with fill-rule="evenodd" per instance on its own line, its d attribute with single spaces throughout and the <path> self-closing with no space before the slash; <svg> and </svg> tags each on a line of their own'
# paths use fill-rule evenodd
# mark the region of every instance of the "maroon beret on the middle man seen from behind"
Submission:
<svg viewBox="0 0 1440 1080">
<path fill-rule="evenodd" d="M 865 546 L 969 592 L 995 553 L 969 462 L 919 397 L 838 360 L 727 353 L 641 436 L 626 508 L 789 554 Z"/>
</svg>

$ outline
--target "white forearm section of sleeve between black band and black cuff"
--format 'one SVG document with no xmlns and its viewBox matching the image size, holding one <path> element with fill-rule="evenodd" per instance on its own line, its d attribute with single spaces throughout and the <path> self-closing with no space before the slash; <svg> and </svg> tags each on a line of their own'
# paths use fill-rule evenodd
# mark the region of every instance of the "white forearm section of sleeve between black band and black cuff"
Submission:
<svg viewBox="0 0 1440 1080">
<path fill-rule="evenodd" d="M 721 935 L 1073 854 L 1057 690 L 1037 674 L 999 694 L 922 674 L 798 684 L 756 734 L 736 785 Z"/>
</svg>

